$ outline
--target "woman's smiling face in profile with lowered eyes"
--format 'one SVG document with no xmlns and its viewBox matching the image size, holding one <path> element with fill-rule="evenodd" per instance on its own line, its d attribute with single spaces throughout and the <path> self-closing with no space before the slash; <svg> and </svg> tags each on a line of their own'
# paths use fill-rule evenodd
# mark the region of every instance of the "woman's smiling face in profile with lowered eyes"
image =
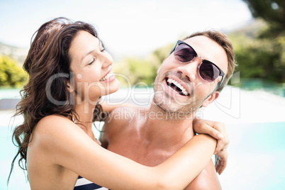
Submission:
<svg viewBox="0 0 285 190">
<path fill-rule="evenodd" d="M 120 83 L 112 71 L 113 59 L 101 41 L 82 30 L 72 40 L 69 48 L 71 57 L 70 71 L 74 72 L 75 97 L 83 101 L 97 101 L 99 96 L 118 90 Z"/>
</svg>

